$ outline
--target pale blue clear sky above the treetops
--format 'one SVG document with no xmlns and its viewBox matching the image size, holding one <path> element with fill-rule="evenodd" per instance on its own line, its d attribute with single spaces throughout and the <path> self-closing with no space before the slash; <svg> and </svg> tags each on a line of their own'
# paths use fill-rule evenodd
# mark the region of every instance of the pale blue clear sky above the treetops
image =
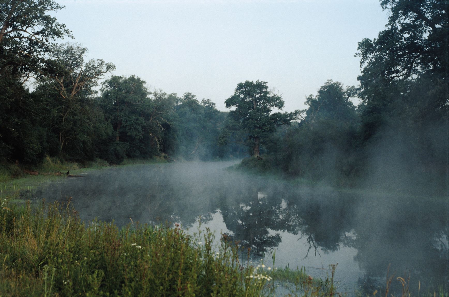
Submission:
<svg viewBox="0 0 449 297">
<path fill-rule="evenodd" d="M 58 0 L 53 15 L 88 58 L 150 90 L 190 92 L 225 111 L 239 82 L 264 81 L 285 111 L 303 109 L 328 79 L 358 85 L 357 43 L 387 24 L 378 0 Z M 357 102 L 355 102 L 357 104 Z"/>
</svg>

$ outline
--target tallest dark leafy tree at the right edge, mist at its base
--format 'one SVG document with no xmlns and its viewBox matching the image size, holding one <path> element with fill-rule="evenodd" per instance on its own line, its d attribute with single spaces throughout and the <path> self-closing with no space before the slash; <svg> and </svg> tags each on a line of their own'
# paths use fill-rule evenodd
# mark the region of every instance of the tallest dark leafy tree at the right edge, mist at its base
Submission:
<svg viewBox="0 0 449 297">
<path fill-rule="evenodd" d="M 362 68 L 361 142 L 382 154 L 373 157 L 375 166 L 397 162 L 394 170 L 407 176 L 405 187 L 412 180 L 442 183 L 449 168 L 449 1 L 382 0 L 381 5 L 390 13 L 385 30 L 376 39 L 363 39 L 356 54 Z M 385 184 L 392 180 L 385 173 L 382 178 Z M 392 187 L 400 186 L 395 181 Z"/>
</svg>

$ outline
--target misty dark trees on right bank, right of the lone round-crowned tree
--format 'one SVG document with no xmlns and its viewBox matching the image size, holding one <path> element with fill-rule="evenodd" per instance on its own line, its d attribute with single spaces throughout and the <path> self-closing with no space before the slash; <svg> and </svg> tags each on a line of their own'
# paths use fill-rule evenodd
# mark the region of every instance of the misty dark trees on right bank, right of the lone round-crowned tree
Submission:
<svg viewBox="0 0 449 297">
<path fill-rule="evenodd" d="M 445 194 L 449 2 L 381 5 L 390 12 L 385 30 L 358 44 L 360 86 L 326 82 L 306 98 L 298 122 L 265 139 L 264 160 L 244 164 L 336 185 Z"/>
</svg>

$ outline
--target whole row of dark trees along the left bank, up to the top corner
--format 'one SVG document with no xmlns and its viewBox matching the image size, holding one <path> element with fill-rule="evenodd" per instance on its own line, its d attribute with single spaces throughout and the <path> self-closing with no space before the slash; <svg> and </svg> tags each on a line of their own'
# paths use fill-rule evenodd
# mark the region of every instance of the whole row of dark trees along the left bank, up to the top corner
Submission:
<svg viewBox="0 0 449 297">
<path fill-rule="evenodd" d="M 242 154 L 238 145 L 219 145 L 227 113 L 210 99 L 149 90 L 136 76 L 113 75 L 100 84 L 115 66 L 86 60 L 79 44 L 57 44 L 72 37 L 48 15 L 58 9 L 51 0 L 0 2 L 0 161 L 38 164 L 55 156 L 119 164 Z M 33 90 L 26 88 L 30 79 Z"/>
</svg>

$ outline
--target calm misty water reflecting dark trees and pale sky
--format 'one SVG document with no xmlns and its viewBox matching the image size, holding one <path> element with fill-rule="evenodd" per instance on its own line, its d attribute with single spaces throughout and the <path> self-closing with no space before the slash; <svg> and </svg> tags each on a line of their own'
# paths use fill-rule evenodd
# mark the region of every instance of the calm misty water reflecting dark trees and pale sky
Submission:
<svg viewBox="0 0 449 297">
<path fill-rule="evenodd" d="M 35 198 L 65 201 L 84 220 L 118 225 L 180 223 L 195 232 L 201 220 L 220 237 L 250 246 L 254 261 L 306 267 L 326 276 L 338 263 L 339 289 L 372 293 L 387 268 L 410 275 L 421 292 L 448 284 L 448 211 L 444 199 L 306 189 L 268 177 L 225 170 L 232 162 L 109 168 L 46 186 Z M 393 284 L 399 285 L 398 282 Z"/>
</svg>

